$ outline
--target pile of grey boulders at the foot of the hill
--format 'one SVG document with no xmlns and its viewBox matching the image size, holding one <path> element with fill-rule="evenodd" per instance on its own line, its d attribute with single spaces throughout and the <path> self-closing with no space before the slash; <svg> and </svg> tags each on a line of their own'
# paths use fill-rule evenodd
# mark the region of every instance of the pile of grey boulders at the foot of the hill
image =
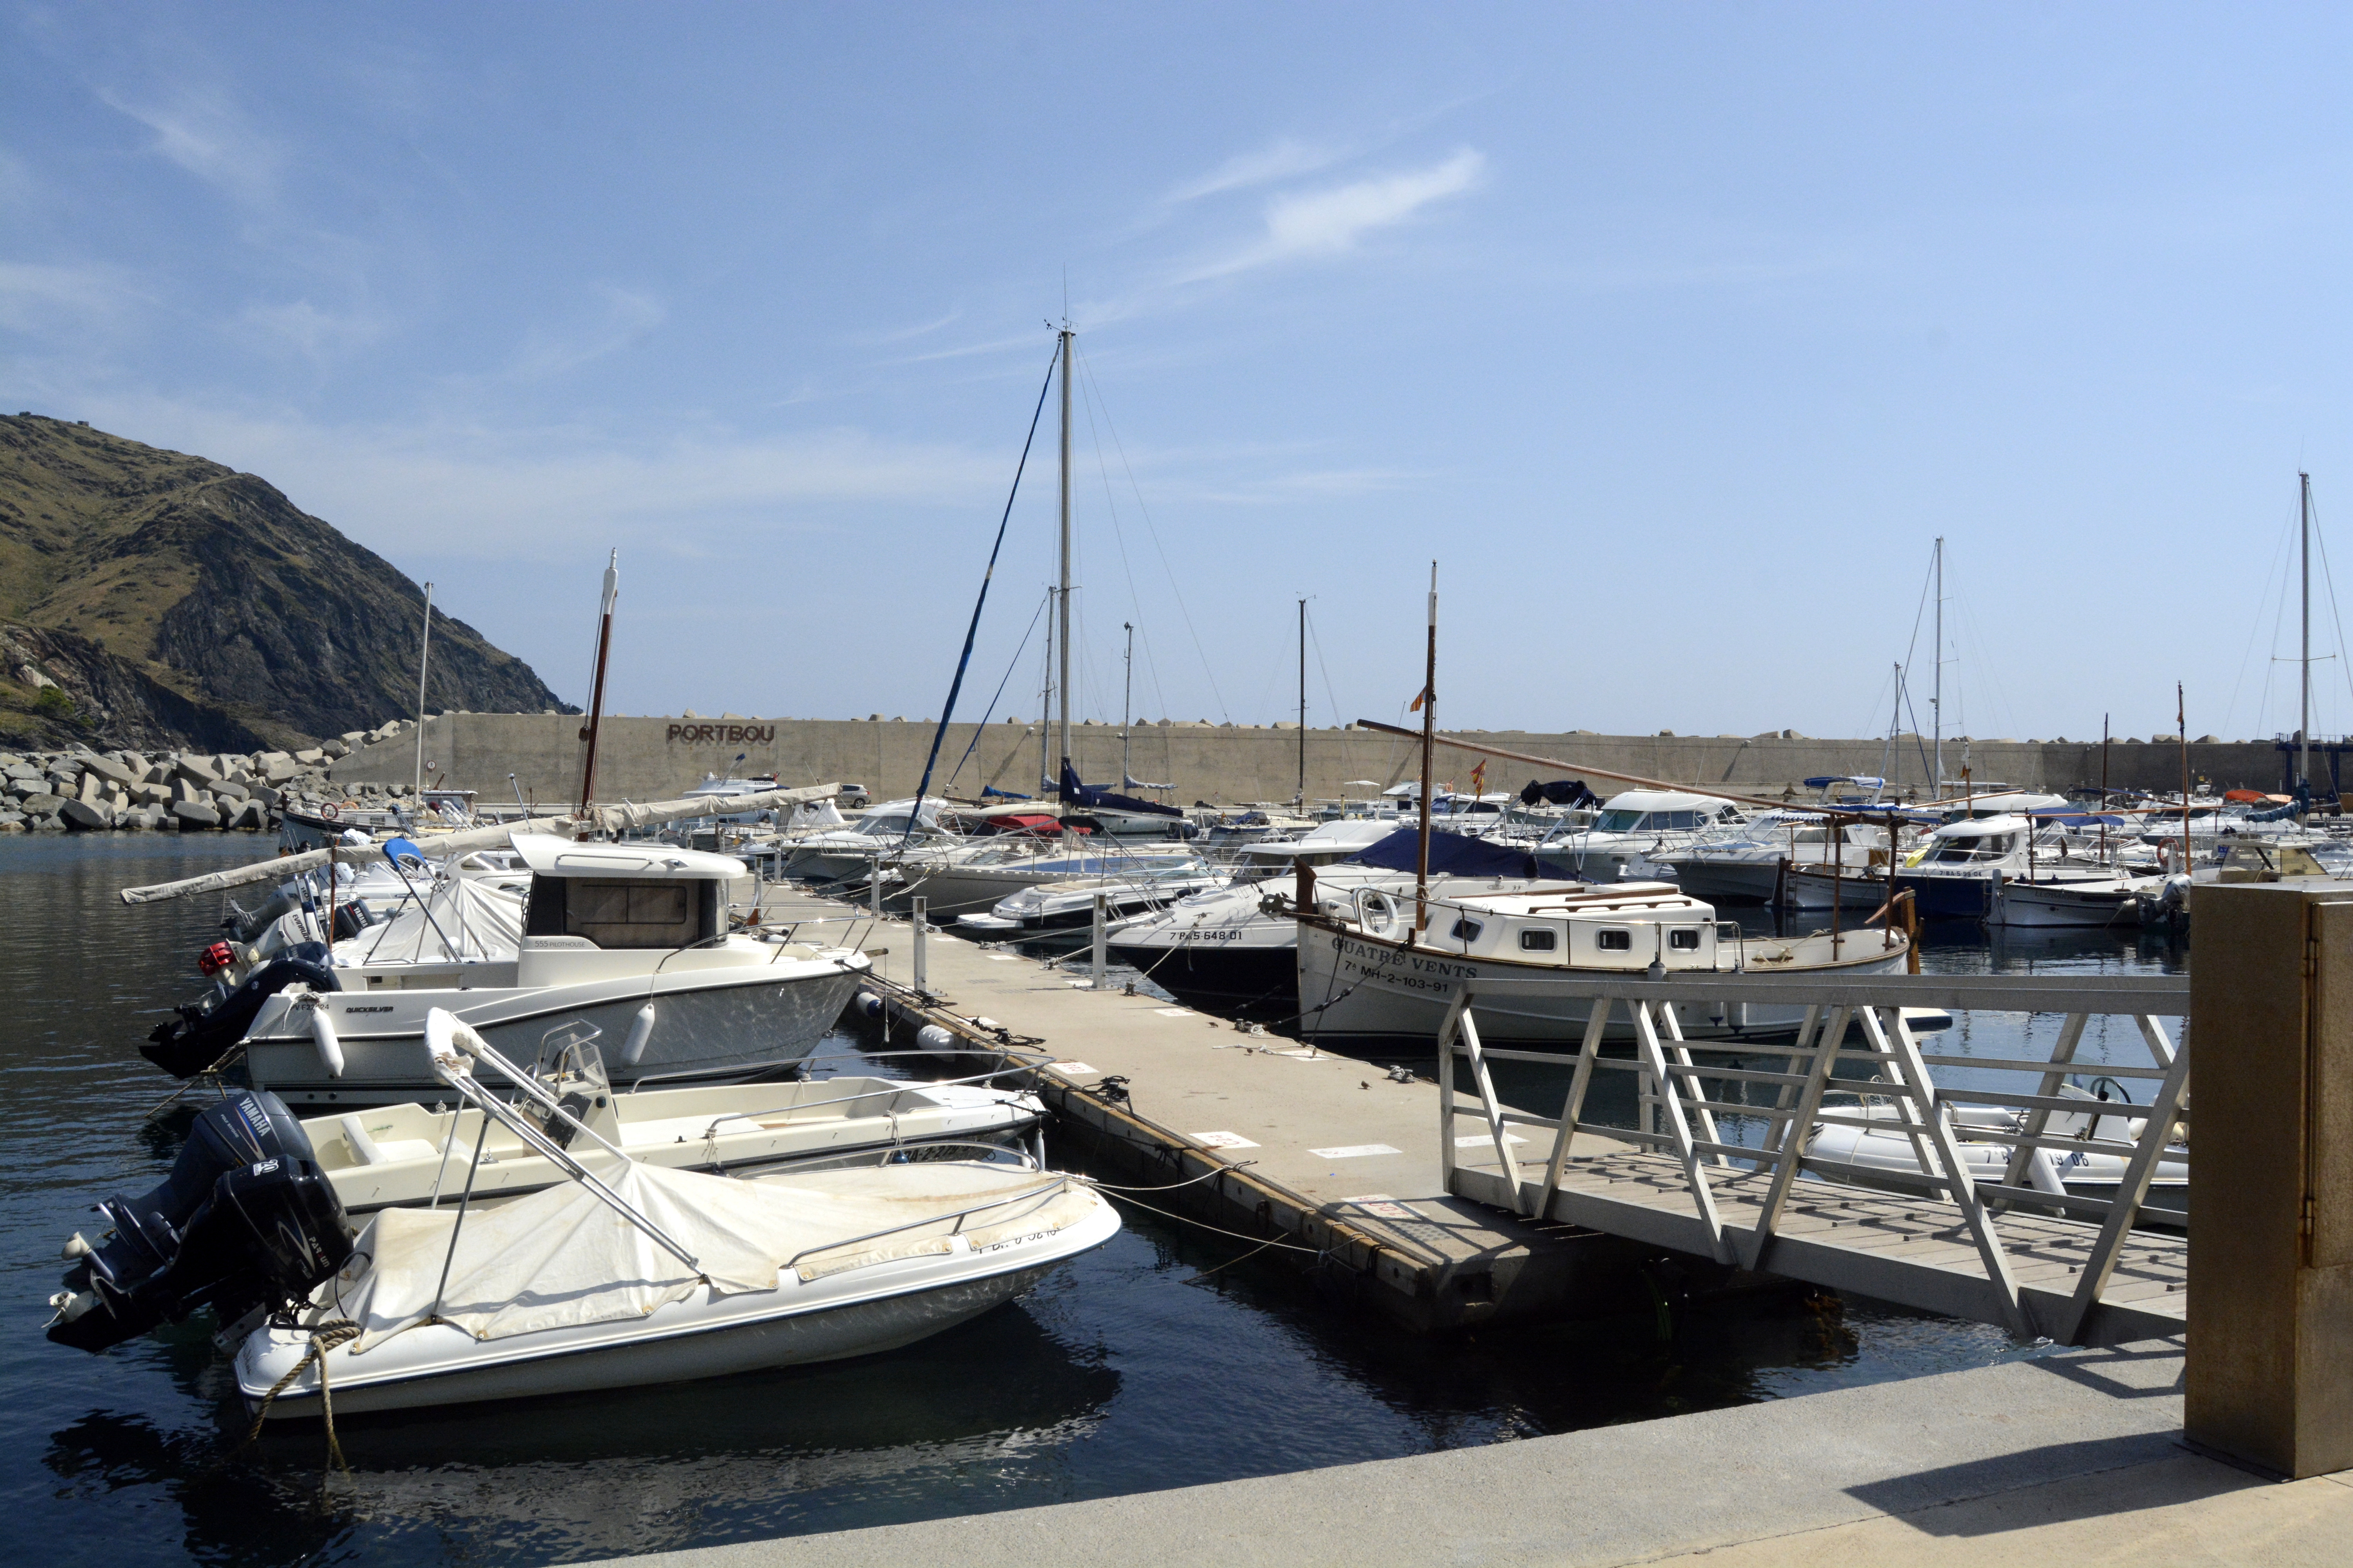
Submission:
<svg viewBox="0 0 2353 1568">
<path fill-rule="evenodd" d="M 0 752 L 0 832 L 261 832 L 282 806 L 341 799 L 327 764 L 379 738 L 299 752 Z"/>
</svg>

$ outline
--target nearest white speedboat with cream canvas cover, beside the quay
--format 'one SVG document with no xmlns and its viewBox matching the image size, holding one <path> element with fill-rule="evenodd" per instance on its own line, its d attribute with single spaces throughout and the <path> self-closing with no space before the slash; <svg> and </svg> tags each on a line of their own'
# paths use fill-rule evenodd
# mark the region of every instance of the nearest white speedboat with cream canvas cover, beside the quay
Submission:
<svg viewBox="0 0 2353 1568">
<path fill-rule="evenodd" d="M 605 1145 L 447 1013 L 431 1048 L 456 1095 L 569 1180 L 504 1204 L 461 1194 L 376 1213 L 306 1300 L 238 1347 L 238 1392 L 264 1418 L 875 1354 L 1014 1300 L 1120 1229 L 1094 1190 L 1028 1164 L 671 1171 Z M 478 1081 L 482 1067 L 522 1091 L 518 1105 Z"/>
</svg>

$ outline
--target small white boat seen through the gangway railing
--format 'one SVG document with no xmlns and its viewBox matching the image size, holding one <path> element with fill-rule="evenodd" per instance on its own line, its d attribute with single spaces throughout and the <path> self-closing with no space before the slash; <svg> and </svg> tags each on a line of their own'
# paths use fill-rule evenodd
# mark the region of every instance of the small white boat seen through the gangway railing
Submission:
<svg viewBox="0 0 2353 1568">
<path fill-rule="evenodd" d="M 2075 1084 L 2061 1084 L 2057 1098 L 2082 1100 L 2085 1110 L 2054 1112 L 2042 1128 L 2045 1138 L 2078 1138 L 2087 1145 L 2089 1140 L 2129 1145 L 2141 1138 L 2141 1128 L 2146 1126 L 2146 1119 L 2129 1114 L 2132 1107 L 2127 1103 L 2106 1100 Z M 2118 1105 L 2118 1110 L 2108 1110 L 2111 1105 Z M 1875 1175 L 1901 1178 L 1922 1171 L 1918 1147 L 1911 1133 L 1904 1131 L 1901 1107 L 1887 1100 L 1864 1100 L 1859 1105 L 1826 1105 L 1824 1110 L 1857 1117 L 1873 1126 L 1814 1126 L 1805 1140 L 1805 1157 L 1847 1166 L 1824 1168 L 1817 1175 L 1859 1187 L 1918 1192 L 1915 1185 L 1901 1180 L 1873 1180 Z M 2009 1173 L 2012 1145 L 1995 1138 L 2024 1133 L 2026 1112 L 1998 1105 L 1946 1105 L 1944 1114 L 1953 1124 L 1953 1143 L 1969 1175 L 1981 1182 L 2002 1182 Z M 2127 1157 L 2113 1147 L 2028 1150 L 2026 1185 L 2049 1194 L 2113 1199 L 2122 1190 L 2125 1164 Z M 2144 1208 L 2158 1211 L 2151 1218 L 2160 1225 L 2181 1225 L 2188 1220 L 2188 1145 L 2174 1145 L 2174 1150 L 2158 1159 Z"/>
</svg>

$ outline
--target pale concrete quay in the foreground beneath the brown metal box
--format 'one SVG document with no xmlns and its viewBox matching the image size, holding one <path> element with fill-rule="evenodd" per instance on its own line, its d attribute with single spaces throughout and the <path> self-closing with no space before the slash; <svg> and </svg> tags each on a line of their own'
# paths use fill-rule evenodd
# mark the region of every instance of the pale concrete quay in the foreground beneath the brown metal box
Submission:
<svg viewBox="0 0 2353 1568">
<path fill-rule="evenodd" d="M 2186 1450 L 2181 1342 L 2064 1352 L 1628 1427 L 628 1559 L 864 1563 L 2341 1563 L 2353 1476 Z"/>
</svg>

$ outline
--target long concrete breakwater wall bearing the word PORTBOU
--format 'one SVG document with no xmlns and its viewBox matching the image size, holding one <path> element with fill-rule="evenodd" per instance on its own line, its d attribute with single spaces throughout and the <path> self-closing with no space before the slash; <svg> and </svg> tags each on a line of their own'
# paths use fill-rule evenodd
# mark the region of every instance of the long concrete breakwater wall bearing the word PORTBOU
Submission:
<svg viewBox="0 0 2353 1568">
<path fill-rule="evenodd" d="M 482 804 L 511 802 L 515 790 L 536 802 L 569 802 L 579 790 L 581 719 L 522 712 L 449 712 L 424 724 L 426 785 L 442 780 L 475 790 Z M 334 764 L 336 785 L 358 788 L 409 783 L 416 771 L 414 726 L 374 731 Z M 598 743 L 600 799 L 664 799 L 706 773 L 774 773 L 786 783 L 861 783 L 875 799 L 915 792 L 934 724 L 920 719 L 746 719 L 725 715 L 609 717 Z M 1925 795 L 1920 750 L 1899 741 L 1889 762 L 1885 738 L 1817 741 L 1793 731 L 1762 736 L 1598 736 L 1591 731 L 1466 731 L 1468 741 L 1537 757 L 1558 757 L 1560 769 L 1489 762 L 1487 788 L 1506 790 L 1532 776 L 1574 776 L 1600 766 L 1645 778 L 1666 778 L 1704 790 L 1779 797 L 1819 773 L 1880 773 L 1906 795 Z M 934 792 L 979 795 L 981 785 L 1031 795 L 1038 790 L 1035 724 L 951 724 L 939 748 Z M 1106 724 L 1071 729 L 1071 750 L 1087 783 L 1118 783 L 1120 731 Z M 2217 788 L 2278 788 L 2280 755 L 2268 741 L 2195 741 L 2191 771 Z M 741 757 L 741 762 L 736 762 Z M 1438 750 L 1440 783 L 1471 788 L 1475 755 L 1452 745 Z M 1946 773 L 1958 778 L 1962 745 L 1946 741 Z M 1414 776 L 1417 745 L 1367 729 L 1306 731 L 1306 792 L 1311 799 L 1369 795 Z M 2099 783 L 2099 743 L 2080 741 L 1972 741 L 1972 776 L 1988 783 L 2068 790 Z M 1132 771 L 1136 778 L 1174 785 L 1174 799 L 1217 804 L 1282 802 L 1299 788 L 1299 731 L 1242 724 L 1136 724 Z M 513 783 L 508 783 L 513 773 Z M 2181 750 L 2172 743 L 2118 741 L 2108 757 L 2108 780 L 2122 790 L 2179 790 Z M 1607 780 L 1595 780 L 1602 795 Z"/>
</svg>

